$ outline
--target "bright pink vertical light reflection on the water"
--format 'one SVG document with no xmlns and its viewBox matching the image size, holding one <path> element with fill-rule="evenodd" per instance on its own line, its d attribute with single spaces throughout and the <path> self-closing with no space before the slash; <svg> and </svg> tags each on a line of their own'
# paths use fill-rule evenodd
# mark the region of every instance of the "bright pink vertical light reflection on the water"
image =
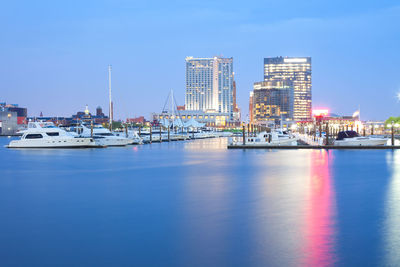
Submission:
<svg viewBox="0 0 400 267">
<path fill-rule="evenodd" d="M 310 154 L 310 191 L 305 222 L 304 266 L 332 266 L 336 259 L 335 191 L 332 185 L 331 151 Z"/>
</svg>

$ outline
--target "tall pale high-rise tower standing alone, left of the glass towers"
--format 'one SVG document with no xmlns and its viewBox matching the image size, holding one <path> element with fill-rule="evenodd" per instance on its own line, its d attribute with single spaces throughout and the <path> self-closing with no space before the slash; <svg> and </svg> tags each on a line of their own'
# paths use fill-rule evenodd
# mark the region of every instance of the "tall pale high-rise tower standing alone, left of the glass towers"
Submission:
<svg viewBox="0 0 400 267">
<path fill-rule="evenodd" d="M 186 110 L 233 114 L 233 58 L 186 58 Z"/>
</svg>

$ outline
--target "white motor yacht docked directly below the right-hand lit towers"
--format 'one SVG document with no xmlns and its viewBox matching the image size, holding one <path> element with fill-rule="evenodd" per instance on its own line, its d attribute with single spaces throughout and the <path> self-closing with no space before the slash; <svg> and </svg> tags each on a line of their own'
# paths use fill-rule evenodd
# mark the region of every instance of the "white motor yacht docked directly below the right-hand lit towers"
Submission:
<svg viewBox="0 0 400 267">
<path fill-rule="evenodd" d="M 233 137 L 232 145 L 243 145 L 243 138 Z M 249 146 L 297 146 L 297 138 L 289 134 L 260 132 L 255 136 L 246 136 L 245 145 Z"/>
</svg>

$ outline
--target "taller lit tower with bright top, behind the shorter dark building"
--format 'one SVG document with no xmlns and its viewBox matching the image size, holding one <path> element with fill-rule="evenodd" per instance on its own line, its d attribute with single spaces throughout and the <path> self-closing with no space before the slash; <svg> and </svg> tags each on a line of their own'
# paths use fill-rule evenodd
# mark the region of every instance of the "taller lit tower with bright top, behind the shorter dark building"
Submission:
<svg viewBox="0 0 400 267">
<path fill-rule="evenodd" d="M 292 81 L 293 119 L 310 120 L 312 108 L 311 57 L 264 58 L 264 81 Z"/>
</svg>

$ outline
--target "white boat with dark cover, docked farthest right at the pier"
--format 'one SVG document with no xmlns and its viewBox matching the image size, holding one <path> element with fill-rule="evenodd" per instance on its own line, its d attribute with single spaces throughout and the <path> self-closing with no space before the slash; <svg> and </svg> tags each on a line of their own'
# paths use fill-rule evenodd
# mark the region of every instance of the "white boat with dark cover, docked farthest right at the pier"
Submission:
<svg viewBox="0 0 400 267">
<path fill-rule="evenodd" d="M 343 131 L 338 133 L 335 146 L 384 146 L 387 138 L 360 136 L 356 131 Z"/>
</svg>

